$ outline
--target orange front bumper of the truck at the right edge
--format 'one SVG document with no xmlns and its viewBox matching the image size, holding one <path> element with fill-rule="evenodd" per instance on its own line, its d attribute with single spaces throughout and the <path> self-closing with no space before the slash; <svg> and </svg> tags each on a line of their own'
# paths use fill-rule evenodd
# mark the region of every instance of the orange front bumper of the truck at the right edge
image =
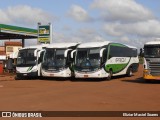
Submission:
<svg viewBox="0 0 160 120">
<path fill-rule="evenodd" d="M 149 70 L 144 70 L 143 71 L 143 79 L 145 79 L 145 80 L 160 80 L 160 75 L 153 76 L 150 74 Z"/>
</svg>

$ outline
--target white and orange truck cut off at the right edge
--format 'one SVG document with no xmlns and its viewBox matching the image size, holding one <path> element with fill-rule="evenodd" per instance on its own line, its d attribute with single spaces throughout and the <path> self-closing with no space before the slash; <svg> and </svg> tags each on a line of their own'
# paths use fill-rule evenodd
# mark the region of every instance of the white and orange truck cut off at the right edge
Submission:
<svg viewBox="0 0 160 120">
<path fill-rule="evenodd" d="M 146 81 L 160 80 L 160 41 L 144 44 L 144 72 Z"/>
</svg>

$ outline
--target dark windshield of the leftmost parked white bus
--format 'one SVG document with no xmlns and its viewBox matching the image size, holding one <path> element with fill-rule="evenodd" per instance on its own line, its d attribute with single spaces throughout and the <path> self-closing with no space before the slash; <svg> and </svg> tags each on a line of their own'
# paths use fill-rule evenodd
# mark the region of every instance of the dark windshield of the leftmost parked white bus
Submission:
<svg viewBox="0 0 160 120">
<path fill-rule="evenodd" d="M 37 62 L 37 57 L 34 56 L 36 49 L 19 50 L 17 58 L 17 67 L 34 66 Z"/>
</svg>

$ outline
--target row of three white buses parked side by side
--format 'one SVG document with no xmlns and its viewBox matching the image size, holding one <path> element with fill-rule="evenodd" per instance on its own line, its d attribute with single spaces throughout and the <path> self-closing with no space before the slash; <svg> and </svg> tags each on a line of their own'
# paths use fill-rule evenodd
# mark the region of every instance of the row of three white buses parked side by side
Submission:
<svg viewBox="0 0 160 120">
<path fill-rule="evenodd" d="M 139 65 L 137 48 L 114 42 L 54 43 L 19 50 L 16 78 L 131 76 Z"/>
</svg>

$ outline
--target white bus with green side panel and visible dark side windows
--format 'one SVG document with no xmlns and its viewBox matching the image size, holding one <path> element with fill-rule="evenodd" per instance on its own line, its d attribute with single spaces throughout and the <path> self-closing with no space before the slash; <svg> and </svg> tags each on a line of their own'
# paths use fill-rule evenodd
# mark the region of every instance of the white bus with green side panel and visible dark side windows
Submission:
<svg viewBox="0 0 160 120">
<path fill-rule="evenodd" d="M 76 49 L 74 70 L 76 78 L 108 78 L 131 76 L 139 65 L 137 49 L 120 43 L 90 42 Z"/>
</svg>

